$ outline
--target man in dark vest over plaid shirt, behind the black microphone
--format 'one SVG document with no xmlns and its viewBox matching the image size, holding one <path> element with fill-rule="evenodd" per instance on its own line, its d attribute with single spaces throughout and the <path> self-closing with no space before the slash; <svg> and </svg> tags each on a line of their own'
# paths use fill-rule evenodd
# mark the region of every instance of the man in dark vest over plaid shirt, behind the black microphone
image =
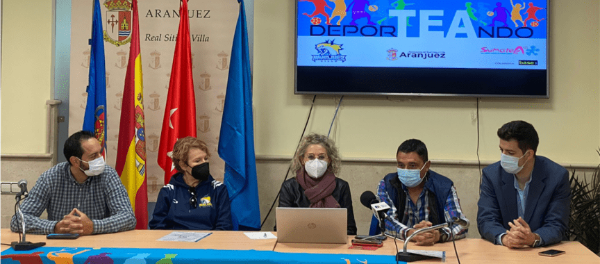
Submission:
<svg viewBox="0 0 600 264">
<path fill-rule="evenodd" d="M 450 222 L 452 217 L 467 220 L 460 210 L 454 183 L 429 170 L 427 147 L 421 140 L 406 140 L 396 153 L 397 172 L 387 174 L 378 185 L 377 198 L 390 206 L 385 233 L 406 239 L 418 229 Z M 417 245 L 465 238 L 467 229 L 458 224 L 427 231 L 412 238 Z"/>
</svg>

